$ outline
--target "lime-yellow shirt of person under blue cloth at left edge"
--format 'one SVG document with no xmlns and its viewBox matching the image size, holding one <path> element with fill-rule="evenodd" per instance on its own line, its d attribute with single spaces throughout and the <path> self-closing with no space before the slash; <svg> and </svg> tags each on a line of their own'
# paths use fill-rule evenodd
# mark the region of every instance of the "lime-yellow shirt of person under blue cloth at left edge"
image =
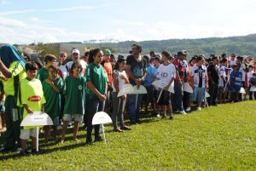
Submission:
<svg viewBox="0 0 256 171">
<path fill-rule="evenodd" d="M 12 73 L 12 77 L 7 81 L 3 81 L 3 90 L 6 95 L 15 95 L 15 76 L 19 75 L 19 80 L 26 78 L 26 72 L 21 66 L 19 61 L 11 63 L 9 71 Z"/>
</svg>

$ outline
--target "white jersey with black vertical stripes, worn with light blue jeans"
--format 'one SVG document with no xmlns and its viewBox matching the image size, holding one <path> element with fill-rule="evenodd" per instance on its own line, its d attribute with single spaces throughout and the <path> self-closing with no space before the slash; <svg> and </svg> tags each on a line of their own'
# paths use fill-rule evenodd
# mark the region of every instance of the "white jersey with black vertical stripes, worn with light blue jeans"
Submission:
<svg viewBox="0 0 256 171">
<path fill-rule="evenodd" d="M 195 87 L 205 88 L 207 79 L 207 67 L 197 65 L 193 66 L 191 69 L 191 77 L 193 77 Z"/>
</svg>

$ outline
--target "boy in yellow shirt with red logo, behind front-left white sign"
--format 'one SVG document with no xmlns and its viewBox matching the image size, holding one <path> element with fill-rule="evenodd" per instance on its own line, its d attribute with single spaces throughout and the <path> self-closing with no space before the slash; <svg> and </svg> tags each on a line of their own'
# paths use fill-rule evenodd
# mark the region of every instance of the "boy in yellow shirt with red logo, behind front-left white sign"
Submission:
<svg viewBox="0 0 256 171">
<path fill-rule="evenodd" d="M 28 62 L 25 66 L 27 77 L 20 82 L 20 95 L 18 96 L 18 105 L 24 107 L 21 118 L 26 115 L 32 114 L 34 111 L 44 111 L 44 93 L 42 83 L 36 78 L 38 66 L 34 62 Z M 37 143 L 37 128 L 24 127 L 20 130 L 21 149 L 22 155 L 30 155 L 26 151 L 26 140 L 31 137 L 32 139 L 32 152 L 36 152 Z"/>
</svg>

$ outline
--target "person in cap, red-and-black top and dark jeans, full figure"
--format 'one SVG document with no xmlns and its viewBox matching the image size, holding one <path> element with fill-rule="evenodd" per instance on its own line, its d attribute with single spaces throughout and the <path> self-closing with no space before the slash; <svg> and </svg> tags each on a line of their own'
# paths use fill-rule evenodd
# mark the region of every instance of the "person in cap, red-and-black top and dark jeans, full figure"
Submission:
<svg viewBox="0 0 256 171">
<path fill-rule="evenodd" d="M 183 81 L 186 76 L 186 68 L 183 66 L 183 60 L 186 59 L 188 52 L 182 50 L 177 52 L 177 58 L 173 61 L 173 65 L 176 68 L 176 77 L 174 79 L 174 97 L 173 111 L 181 114 L 187 114 L 183 108 Z"/>
</svg>

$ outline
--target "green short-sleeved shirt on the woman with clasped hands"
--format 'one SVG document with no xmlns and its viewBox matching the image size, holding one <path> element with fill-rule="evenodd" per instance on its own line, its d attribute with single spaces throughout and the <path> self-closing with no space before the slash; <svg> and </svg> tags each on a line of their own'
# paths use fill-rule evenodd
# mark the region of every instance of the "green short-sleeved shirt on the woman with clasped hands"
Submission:
<svg viewBox="0 0 256 171">
<path fill-rule="evenodd" d="M 101 93 L 106 93 L 106 84 L 108 83 L 108 75 L 102 65 L 96 66 L 94 62 L 90 63 L 86 68 L 86 80 L 93 83 L 95 88 Z M 86 89 L 86 94 L 94 94 L 90 88 Z"/>
</svg>

